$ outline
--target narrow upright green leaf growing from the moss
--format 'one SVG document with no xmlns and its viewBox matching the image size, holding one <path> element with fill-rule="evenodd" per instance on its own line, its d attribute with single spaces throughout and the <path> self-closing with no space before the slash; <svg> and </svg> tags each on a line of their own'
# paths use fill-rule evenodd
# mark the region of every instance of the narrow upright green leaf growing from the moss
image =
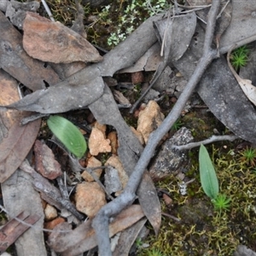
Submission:
<svg viewBox="0 0 256 256">
<path fill-rule="evenodd" d="M 215 199 L 218 195 L 218 178 L 207 148 L 202 144 L 199 150 L 199 169 L 203 190 L 207 196 Z"/>
</svg>

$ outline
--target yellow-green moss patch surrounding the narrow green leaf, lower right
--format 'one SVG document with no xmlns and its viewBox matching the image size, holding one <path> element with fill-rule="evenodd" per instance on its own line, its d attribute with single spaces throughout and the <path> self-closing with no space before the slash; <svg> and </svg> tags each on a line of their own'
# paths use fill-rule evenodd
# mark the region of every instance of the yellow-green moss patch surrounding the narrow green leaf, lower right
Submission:
<svg viewBox="0 0 256 256">
<path fill-rule="evenodd" d="M 193 150 L 197 158 L 197 151 Z M 238 244 L 255 250 L 256 238 L 256 174 L 253 166 L 241 161 L 240 154 L 223 152 L 212 147 L 220 193 L 230 198 L 229 211 L 214 209 L 201 189 L 198 166 L 193 163 L 189 177 L 188 195 L 180 195 L 177 177 L 168 177 L 156 184 L 172 195 L 172 206 L 162 202 L 162 212 L 180 218 L 177 222 L 163 216 L 160 234 L 145 241 L 150 248 L 164 255 L 232 255 Z M 148 255 L 140 250 L 138 255 Z"/>
</svg>

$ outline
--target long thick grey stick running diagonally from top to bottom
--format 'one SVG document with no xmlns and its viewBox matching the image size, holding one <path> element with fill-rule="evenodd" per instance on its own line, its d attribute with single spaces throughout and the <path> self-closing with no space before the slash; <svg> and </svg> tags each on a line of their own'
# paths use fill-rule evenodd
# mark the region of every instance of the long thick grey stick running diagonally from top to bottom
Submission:
<svg viewBox="0 0 256 256">
<path fill-rule="evenodd" d="M 200 81 L 202 74 L 207 69 L 207 66 L 211 61 L 218 55 L 217 50 L 211 49 L 212 38 L 214 27 L 216 23 L 216 16 L 218 15 L 220 0 L 212 1 L 212 8 L 209 11 L 209 18 L 207 22 L 206 38 L 203 48 L 203 55 L 199 61 L 195 72 L 189 79 L 183 93 L 178 98 L 176 104 L 172 108 L 172 111 L 167 115 L 166 119 L 160 125 L 160 127 L 154 131 L 148 139 L 148 144 L 143 150 L 143 154 L 137 162 L 134 171 L 131 173 L 131 177 L 124 189 L 124 192 L 119 195 L 115 200 L 102 207 L 94 218 L 92 226 L 96 230 L 96 237 L 98 242 L 99 254 L 104 256 L 111 256 L 110 242 L 108 238 L 109 229 L 108 223 L 109 218 L 113 215 L 118 214 L 128 205 L 136 199 L 136 190 L 143 177 L 143 172 L 148 166 L 148 162 L 154 154 L 154 150 L 161 138 L 166 135 L 166 132 L 170 130 L 172 125 L 175 123 L 180 113 L 182 112 L 186 102 L 189 100 L 189 96 L 195 89 L 196 84 Z"/>
</svg>

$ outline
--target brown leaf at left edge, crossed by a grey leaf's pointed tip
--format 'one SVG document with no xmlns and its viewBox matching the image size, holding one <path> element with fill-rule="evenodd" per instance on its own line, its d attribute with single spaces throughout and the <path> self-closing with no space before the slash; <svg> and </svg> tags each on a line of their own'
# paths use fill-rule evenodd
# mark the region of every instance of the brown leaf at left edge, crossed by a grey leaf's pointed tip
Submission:
<svg viewBox="0 0 256 256">
<path fill-rule="evenodd" d="M 18 84 L 8 73 L 0 69 L 0 104 L 17 101 Z M 21 119 L 30 113 L 9 110 L 0 112 L 0 183 L 9 178 L 32 148 L 40 128 L 40 119 L 20 126 Z"/>
</svg>

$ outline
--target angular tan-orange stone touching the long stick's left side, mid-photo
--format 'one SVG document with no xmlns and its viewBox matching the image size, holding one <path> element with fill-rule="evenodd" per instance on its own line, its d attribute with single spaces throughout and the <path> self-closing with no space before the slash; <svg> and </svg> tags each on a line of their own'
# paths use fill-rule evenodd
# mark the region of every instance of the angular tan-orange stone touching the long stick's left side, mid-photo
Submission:
<svg viewBox="0 0 256 256">
<path fill-rule="evenodd" d="M 148 143 L 150 133 L 157 129 L 163 119 L 165 119 L 165 116 L 160 112 L 159 105 L 154 101 L 148 102 L 147 107 L 139 113 L 137 131 L 143 134 L 145 143 Z"/>
</svg>

